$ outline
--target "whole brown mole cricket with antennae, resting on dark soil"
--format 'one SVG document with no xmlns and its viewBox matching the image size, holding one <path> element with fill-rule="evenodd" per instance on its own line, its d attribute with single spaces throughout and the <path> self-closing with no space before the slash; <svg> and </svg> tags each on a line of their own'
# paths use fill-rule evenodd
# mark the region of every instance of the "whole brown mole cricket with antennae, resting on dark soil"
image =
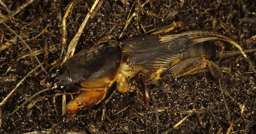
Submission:
<svg viewBox="0 0 256 134">
<path fill-rule="evenodd" d="M 239 48 L 239 51 L 224 52 L 223 46 L 201 44 L 210 40 L 229 42 Z M 161 36 L 147 35 L 120 42 L 106 40 L 80 51 L 61 68 L 52 69 L 45 83 L 48 89 L 41 92 L 50 91 L 45 97 L 77 94 L 67 104 L 64 117 L 74 116 L 83 109 L 101 102 L 115 81 L 120 92 L 128 92 L 130 83 L 136 82 L 143 93 L 145 104 L 149 104 L 150 92 L 146 85 L 147 81 L 206 70 L 209 70 L 214 78 L 220 78 L 221 72 L 216 63 L 221 58 L 242 53 L 248 59 L 245 52 L 251 51 L 255 49 L 244 51 L 233 40 L 207 30 Z M 253 65 L 251 67 L 254 69 Z M 40 99 L 39 97 L 36 101 Z M 29 106 L 32 107 L 36 101 Z"/>
</svg>

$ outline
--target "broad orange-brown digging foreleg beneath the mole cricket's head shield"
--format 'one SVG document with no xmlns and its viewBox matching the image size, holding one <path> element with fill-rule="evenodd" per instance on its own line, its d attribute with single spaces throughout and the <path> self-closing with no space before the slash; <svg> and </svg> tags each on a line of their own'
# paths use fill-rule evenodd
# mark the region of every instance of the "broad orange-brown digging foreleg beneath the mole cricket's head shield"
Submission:
<svg viewBox="0 0 256 134">
<path fill-rule="evenodd" d="M 67 104 L 64 117 L 75 116 L 83 109 L 90 108 L 101 102 L 106 96 L 106 90 L 82 91 Z"/>
</svg>

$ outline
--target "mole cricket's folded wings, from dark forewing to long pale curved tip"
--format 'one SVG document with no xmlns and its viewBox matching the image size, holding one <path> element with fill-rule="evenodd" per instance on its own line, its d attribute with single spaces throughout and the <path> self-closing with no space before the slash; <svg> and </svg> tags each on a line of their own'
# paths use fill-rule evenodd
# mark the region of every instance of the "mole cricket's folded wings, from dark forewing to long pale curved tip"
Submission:
<svg viewBox="0 0 256 134">
<path fill-rule="evenodd" d="M 126 39 L 121 42 L 121 47 L 123 52 L 128 54 L 125 64 L 158 69 L 178 58 L 186 48 L 210 40 L 227 41 L 239 48 L 242 55 L 248 59 L 243 49 L 232 39 L 208 30 L 191 30 L 164 36 Z"/>
</svg>

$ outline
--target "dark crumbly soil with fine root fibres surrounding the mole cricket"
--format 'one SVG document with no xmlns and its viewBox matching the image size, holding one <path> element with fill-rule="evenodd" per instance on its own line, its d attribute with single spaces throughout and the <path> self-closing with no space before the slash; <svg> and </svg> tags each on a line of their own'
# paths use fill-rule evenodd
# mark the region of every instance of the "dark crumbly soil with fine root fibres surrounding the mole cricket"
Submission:
<svg viewBox="0 0 256 134">
<path fill-rule="evenodd" d="M 29 0 L 2 1 L 14 13 Z M 16 31 L 49 64 L 63 58 L 67 46 L 92 7 L 94 0 L 30 0 L 31 4 L 11 16 L 1 5 L 5 23 Z M 67 43 L 62 43 L 62 19 L 68 6 Z M 256 48 L 255 0 L 108 0 L 86 24 L 76 46 L 76 52 L 87 48 L 107 35 L 118 41 L 142 36 L 148 30 L 181 21 L 190 30 L 217 31 L 238 42 L 242 48 Z M 139 4 L 138 4 L 139 3 Z M 141 5 L 141 7 L 139 7 Z M 123 36 L 127 17 L 133 13 Z M 0 96 L 1 101 L 17 83 L 38 65 L 29 50 L 3 24 L 0 25 Z M 45 29 L 46 28 L 46 29 Z M 44 30 L 45 29 L 45 30 Z M 42 32 L 43 31 L 43 32 Z M 237 50 L 227 42 L 225 50 Z M 6 47 L 7 46 L 7 47 Z M 6 47 L 6 48 L 5 48 Z M 62 50 L 64 50 L 62 52 Z M 28 55 L 26 57 L 22 57 Z M 248 57 L 256 64 L 256 53 Z M 166 77 L 148 82 L 152 103 L 143 103 L 142 93 L 120 93 L 115 84 L 107 97 L 97 106 L 86 109 L 76 117 L 63 119 L 62 97 L 42 100 L 31 109 L 25 105 L 3 119 L 1 133 L 256 133 L 255 73 L 242 55 L 225 58 L 219 66 L 220 81 L 210 73 L 181 77 Z M 41 72 L 41 73 L 40 73 Z M 39 73 L 38 75 L 35 75 Z M 9 77 L 10 76 L 10 77 Z M 2 115 L 11 113 L 34 93 L 45 89 L 40 85 L 45 73 L 40 68 L 29 75 L 1 106 Z M 111 95 L 112 94 L 112 95 Z M 42 96 L 43 94 L 41 94 Z M 39 95 L 40 96 L 40 95 Z M 67 100 L 70 96 L 67 95 Z M 109 100 L 109 101 L 108 101 Z M 107 103 L 105 103 L 107 102 Z M 56 108 L 55 108 L 56 106 Z M 185 117 L 186 120 L 177 125 Z"/>
</svg>

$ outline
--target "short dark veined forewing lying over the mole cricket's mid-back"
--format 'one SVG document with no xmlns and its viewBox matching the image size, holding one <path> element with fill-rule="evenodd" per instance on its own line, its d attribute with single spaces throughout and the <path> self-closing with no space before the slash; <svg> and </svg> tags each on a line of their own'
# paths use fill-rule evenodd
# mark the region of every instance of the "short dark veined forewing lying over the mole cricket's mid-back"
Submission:
<svg viewBox="0 0 256 134">
<path fill-rule="evenodd" d="M 190 44 L 186 36 L 161 42 L 161 36 L 144 36 L 121 42 L 122 51 L 128 55 L 124 64 L 157 70 L 180 56 Z"/>
</svg>

